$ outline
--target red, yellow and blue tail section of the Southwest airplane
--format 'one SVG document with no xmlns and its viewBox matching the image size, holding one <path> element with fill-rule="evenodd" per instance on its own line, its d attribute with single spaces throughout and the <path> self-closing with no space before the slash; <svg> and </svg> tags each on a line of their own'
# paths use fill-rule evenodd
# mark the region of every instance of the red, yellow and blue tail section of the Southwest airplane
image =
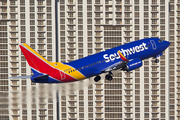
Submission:
<svg viewBox="0 0 180 120">
<path fill-rule="evenodd" d="M 35 83 L 61 83 L 77 81 L 77 79 L 63 71 L 63 66 L 65 68 L 69 66 L 59 62 L 57 63 L 47 61 L 25 43 L 23 45 L 19 45 L 19 47 L 21 48 L 21 51 L 24 54 L 24 57 L 26 58 L 34 75 L 11 77 L 11 79 L 31 78 L 31 80 Z M 62 78 L 62 75 L 66 79 Z"/>
</svg>

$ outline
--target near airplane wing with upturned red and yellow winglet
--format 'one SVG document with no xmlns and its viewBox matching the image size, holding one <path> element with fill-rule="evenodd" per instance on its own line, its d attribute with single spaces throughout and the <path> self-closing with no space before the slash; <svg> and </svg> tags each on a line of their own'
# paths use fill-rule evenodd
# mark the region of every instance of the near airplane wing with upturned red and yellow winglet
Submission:
<svg viewBox="0 0 180 120">
<path fill-rule="evenodd" d="M 119 54 L 120 58 L 122 59 L 122 61 L 112 64 L 111 66 L 108 66 L 107 68 L 105 68 L 104 70 L 101 71 L 102 73 L 121 69 L 126 66 L 126 64 L 129 62 L 129 60 L 120 51 L 118 51 L 118 54 Z"/>
</svg>

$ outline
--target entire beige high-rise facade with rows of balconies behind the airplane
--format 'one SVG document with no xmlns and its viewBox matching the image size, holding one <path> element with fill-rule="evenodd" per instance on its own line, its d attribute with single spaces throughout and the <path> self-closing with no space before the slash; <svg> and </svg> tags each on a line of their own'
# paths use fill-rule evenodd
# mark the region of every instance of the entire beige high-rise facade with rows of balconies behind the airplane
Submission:
<svg viewBox="0 0 180 120">
<path fill-rule="evenodd" d="M 0 119 L 180 119 L 179 6 L 180 0 L 0 0 Z M 21 43 L 49 61 L 70 62 L 149 37 L 171 42 L 160 62 L 144 60 L 112 81 L 8 79 L 31 74 Z"/>
</svg>

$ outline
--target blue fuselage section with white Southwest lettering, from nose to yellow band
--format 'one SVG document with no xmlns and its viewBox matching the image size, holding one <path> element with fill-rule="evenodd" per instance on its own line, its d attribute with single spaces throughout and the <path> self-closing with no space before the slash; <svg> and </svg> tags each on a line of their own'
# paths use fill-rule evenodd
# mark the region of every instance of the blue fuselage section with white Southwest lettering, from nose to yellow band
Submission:
<svg viewBox="0 0 180 120">
<path fill-rule="evenodd" d="M 168 41 L 161 41 L 159 38 L 147 38 L 130 42 L 65 64 L 73 66 L 86 76 L 86 78 L 89 78 L 101 74 L 101 71 L 108 66 L 120 63 L 122 59 L 117 51 L 121 51 L 128 60 L 136 58 L 144 60 L 161 54 L 169 44 Z"/>
</svg>

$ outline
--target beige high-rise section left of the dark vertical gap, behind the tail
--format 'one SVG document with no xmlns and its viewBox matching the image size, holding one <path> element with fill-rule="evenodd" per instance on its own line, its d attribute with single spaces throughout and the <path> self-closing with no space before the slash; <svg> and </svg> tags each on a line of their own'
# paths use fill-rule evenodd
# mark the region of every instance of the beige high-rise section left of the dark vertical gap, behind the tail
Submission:
<svg viewBox="0 0 180 120">
<path fill-rule="evenodd" d="M 53 0 L 0 1 L 1 120 L 56 117 L 56 102 L 48 97 L 54 93 L 48 93 L 44 85 L 34 84 L 29 79 L 8 79 L 31 74 L 19 49 L 21 43 L 29 44 L 48 60 L 55 61 L 54 4 Z"/>
</svg>

